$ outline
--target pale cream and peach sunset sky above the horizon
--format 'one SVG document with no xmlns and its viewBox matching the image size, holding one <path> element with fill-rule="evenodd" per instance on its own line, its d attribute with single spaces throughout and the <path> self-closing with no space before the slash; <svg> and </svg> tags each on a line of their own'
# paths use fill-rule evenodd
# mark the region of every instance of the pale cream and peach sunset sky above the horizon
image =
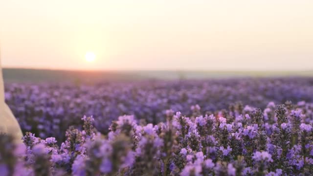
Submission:
<svg viewBox="0 0 313 176">
<path fill-rule="evenodd" d="M 312 70 L 312 9 L 313 0 L 1 0 L 1 60 L 50 69 Z"/>
</svg>

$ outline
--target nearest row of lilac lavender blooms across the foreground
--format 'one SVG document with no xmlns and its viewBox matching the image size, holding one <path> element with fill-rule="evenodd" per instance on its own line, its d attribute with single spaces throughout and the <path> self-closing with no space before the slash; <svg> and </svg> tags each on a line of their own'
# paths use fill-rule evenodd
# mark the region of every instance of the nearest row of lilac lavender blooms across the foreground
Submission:
<svg viewBox="0 0 313 176">
<path fill-rule="evenodd" d="M 272 106 L 246 112 L 236 107 L 197 117 L 171 112 L 156 125 L 124 115 L 112 121 L 108 134 L 98 132 L 97 121 L 85 116 L 82 129 L 68 128 L 60 145 L 54 137 L 41 139 L 30 132 L 16 145 L 2 134 L 0 170 L 25 176 L 310 175 L 312 104 Z M 265 113 L 274 116 L 265 118 Z M 305 123 L 308 118 L 310 123 Z M 294 133 L 293 128 L 300 130 Z"/>
</svg>

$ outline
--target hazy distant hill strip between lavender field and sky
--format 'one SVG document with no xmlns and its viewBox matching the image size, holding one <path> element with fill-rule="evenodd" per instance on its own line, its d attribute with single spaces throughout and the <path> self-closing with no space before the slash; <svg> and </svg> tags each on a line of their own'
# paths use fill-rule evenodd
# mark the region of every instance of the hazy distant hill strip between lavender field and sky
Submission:
<svg viewBox="0 0 313 176">
<path fill-rule="evenodd" d="M 313 76 L 313 71 L 69 71 L 4 68 L 5 82 L 97 82 L 143 79 Z"/>
</svg>

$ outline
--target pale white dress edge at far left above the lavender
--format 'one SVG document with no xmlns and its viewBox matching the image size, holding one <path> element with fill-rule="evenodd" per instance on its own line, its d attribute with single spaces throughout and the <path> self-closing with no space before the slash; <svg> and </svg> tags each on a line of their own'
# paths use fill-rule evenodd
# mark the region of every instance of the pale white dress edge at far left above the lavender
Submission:
<svg viewBox="0 0 313 176">
<path fill-rule="evenodd" d="M 2 77 L 2 66 L 0 59 L 0 133 L 11 134 L 15 142 L 22 142 L 22 131 L 12 111 L 4 101 L 4 85 Z"/>
</svg>

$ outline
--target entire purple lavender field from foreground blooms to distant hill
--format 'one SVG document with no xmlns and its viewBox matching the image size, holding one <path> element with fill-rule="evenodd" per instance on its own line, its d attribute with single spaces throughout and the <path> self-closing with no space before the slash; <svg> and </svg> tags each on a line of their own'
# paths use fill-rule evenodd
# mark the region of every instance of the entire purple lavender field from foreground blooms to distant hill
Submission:
<svg viewBox="0 0 313 176">
<path fill-rule="evenodd" d="M 313 78 L 9 83 L 7 176 L 310 176 Z"/>
</svg>

